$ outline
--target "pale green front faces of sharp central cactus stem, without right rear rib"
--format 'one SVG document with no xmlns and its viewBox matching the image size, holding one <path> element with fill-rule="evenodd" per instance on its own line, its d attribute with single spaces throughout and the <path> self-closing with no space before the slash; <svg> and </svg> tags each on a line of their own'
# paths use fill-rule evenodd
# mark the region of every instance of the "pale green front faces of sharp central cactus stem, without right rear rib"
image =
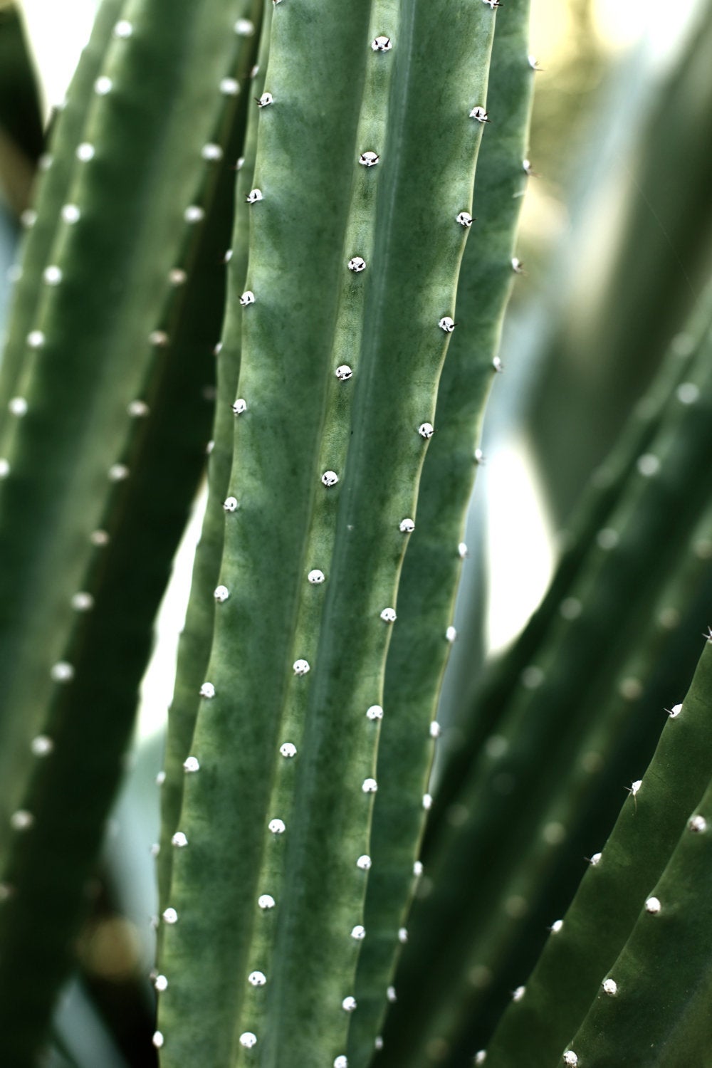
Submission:
<svg viewBox="0 0 712 1068">
<path fill-rule="evenodd" d="M 488 4 L 453 15 L 273 12 L 264 199 L 248 288 L 232 295 L 247 310 L 228 597 L 162 913 L 167 1068 L 199 1054 L 346 1064 L 401 524 L 449 336 L 494 19 Z"/>
</svg>

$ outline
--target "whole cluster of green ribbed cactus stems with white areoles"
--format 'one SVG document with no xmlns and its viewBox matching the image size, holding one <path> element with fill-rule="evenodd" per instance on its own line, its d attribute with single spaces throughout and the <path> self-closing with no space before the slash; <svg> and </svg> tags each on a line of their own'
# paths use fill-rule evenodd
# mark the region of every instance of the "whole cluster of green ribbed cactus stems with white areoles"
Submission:
<svg viewBox="0 0 712 1068">
<path fill-rule="evenodd" d="M 650 768 L 626 775 L 663 722 L 636 709 L 683 686 L 709 625 L 709 298 L 539 612 L 473 707 L 438 711 L 523 272 L 528 17 L 528 0 L 100 5 L 0 375 L 2 1064 L 52 1045 L 204 474 L 145 1063 L 622 1068 L 648 1063 L 649 1033 L 674 1068 L 707 1049 L 709 638 Z M 626 784 L 526 979 L 540 945 L 520 943 L 544 941 L 561 873 L 567 899 L 580 878 L 567 849 L 607 835 Z"/>
</svg>

